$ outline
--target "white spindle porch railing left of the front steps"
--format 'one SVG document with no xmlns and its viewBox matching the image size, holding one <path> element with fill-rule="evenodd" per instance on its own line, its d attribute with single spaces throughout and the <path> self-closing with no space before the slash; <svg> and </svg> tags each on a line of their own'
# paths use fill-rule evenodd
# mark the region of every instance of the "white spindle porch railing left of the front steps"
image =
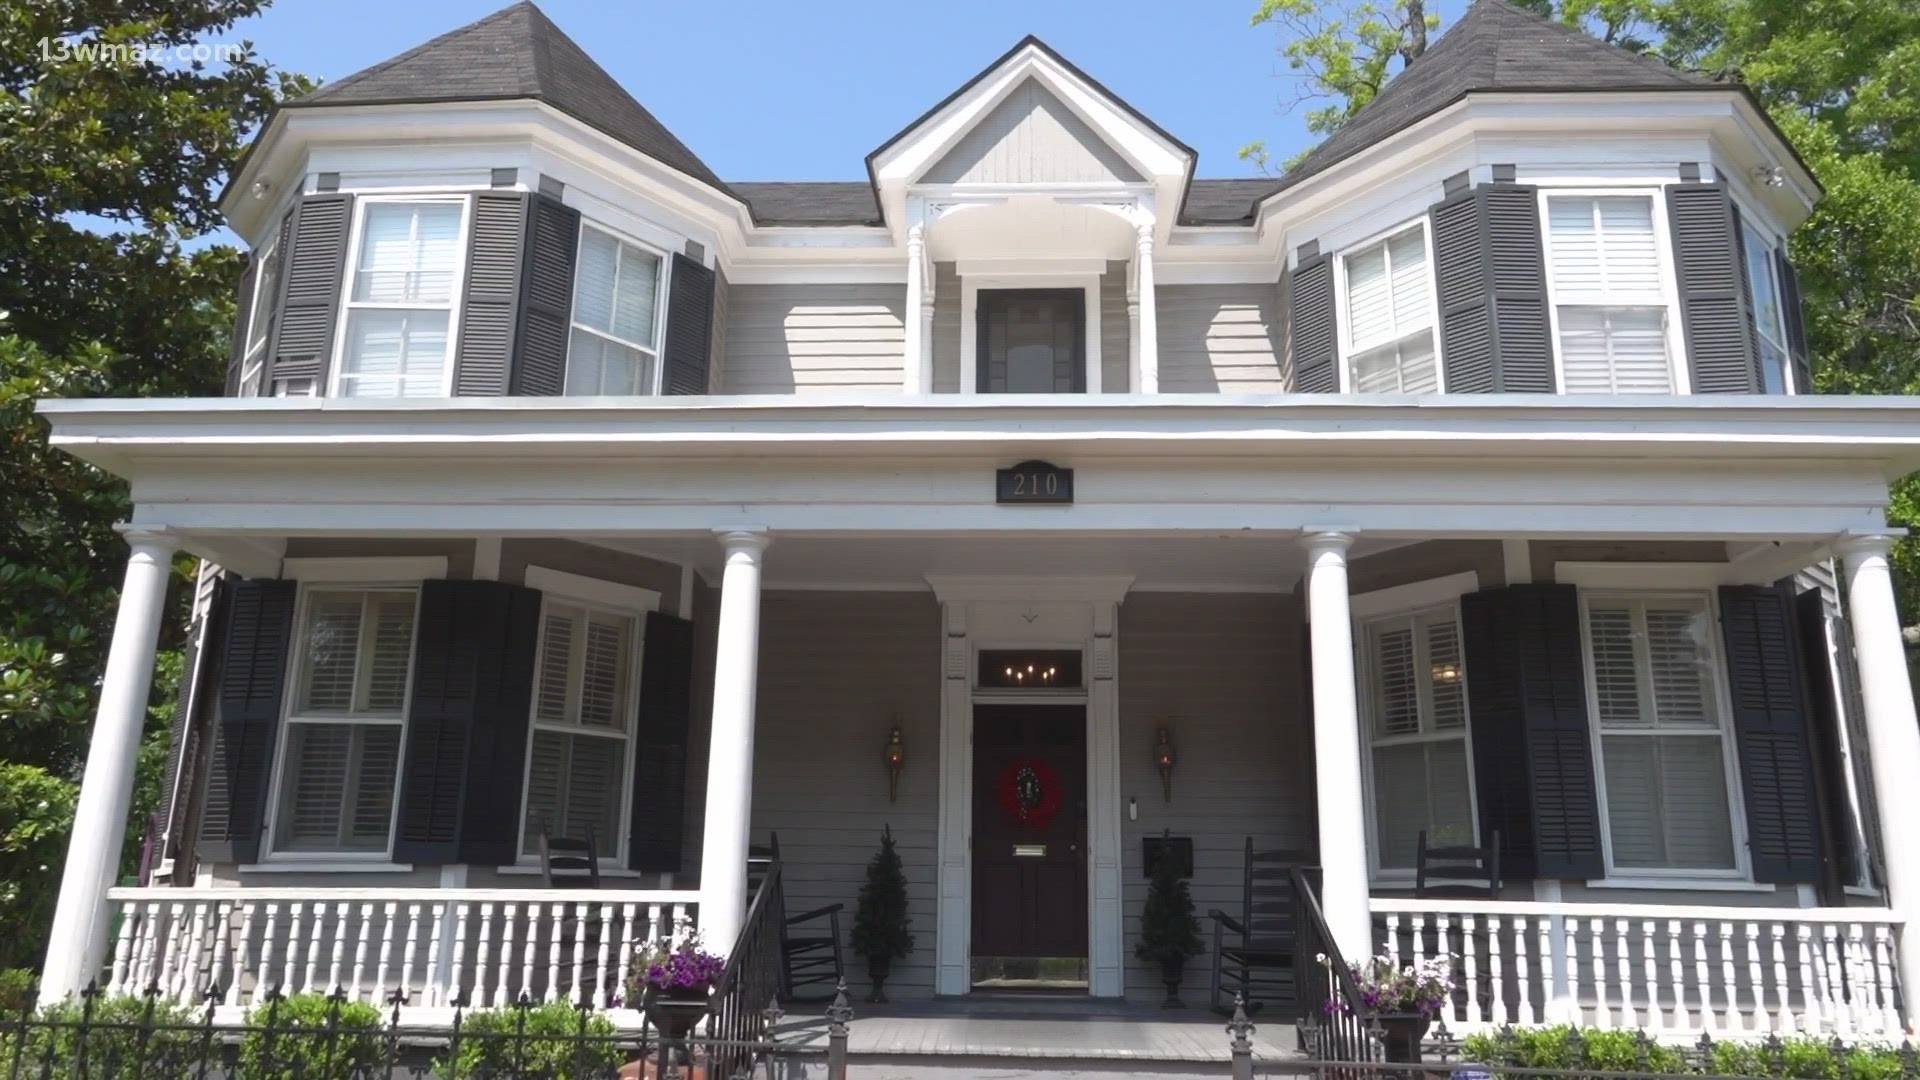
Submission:
<svg viewBox="0 0 1920 1080">
<path fill-rule="evenodd" d="M 624 995 L 634 959 L 693 930 L 691 890 L 115 888 L 108 994 L 244 1007 L 346 992 L 409 1007 Z"/>
</svg>

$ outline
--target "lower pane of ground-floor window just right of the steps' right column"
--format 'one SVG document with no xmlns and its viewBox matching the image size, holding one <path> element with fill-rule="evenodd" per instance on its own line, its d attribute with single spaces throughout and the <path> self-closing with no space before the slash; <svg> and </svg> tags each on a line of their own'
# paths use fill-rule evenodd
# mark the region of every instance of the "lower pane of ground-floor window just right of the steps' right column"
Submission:
<svg viewBox="0 0 1920 1080">
<path fill-rule="evenodd" d="M 1448 738 L 1373 751 L 1373 807 L 1382 869 L 1411 869 L 1419 834 L 1430 846 L 1473 844 L 1467 742 Z"/>
</svg>

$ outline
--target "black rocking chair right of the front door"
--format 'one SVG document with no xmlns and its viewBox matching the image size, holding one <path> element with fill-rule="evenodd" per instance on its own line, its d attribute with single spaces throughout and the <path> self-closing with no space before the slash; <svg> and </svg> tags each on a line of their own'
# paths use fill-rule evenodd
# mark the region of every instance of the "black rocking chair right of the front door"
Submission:
<svg viewBox="0 0 1920 1080">
<path fill-rule="evenodd" d="M 1309 888 L 1319 888 L 1319 867 L 1306 851 L 1256 851 L 1246 838 L 1246 876 L 1240 890 L 1240 917 L 1208 911 L 1213 920 L 1213 978 L 1208 1003 L 1215 1013 L 1233 1013 L 1233 997 L 1246 997 L 1246 1011 L 1265 1005 L 1292 1011 L 1300 1003 L 1313 957 L 1300 955 L 1300 894 L 1294 869 L 1302 869 Z"/>
</svg>

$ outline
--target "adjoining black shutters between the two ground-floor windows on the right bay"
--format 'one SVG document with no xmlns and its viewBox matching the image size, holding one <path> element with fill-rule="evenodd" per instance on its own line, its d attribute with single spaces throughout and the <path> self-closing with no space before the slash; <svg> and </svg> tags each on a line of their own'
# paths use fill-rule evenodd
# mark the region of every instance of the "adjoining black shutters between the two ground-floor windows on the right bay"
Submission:
<svg viewBox="0 0 1920 1080">
<path fill-rule="evenodd" d="M 1586 719 L 1580 601 L 1571 584 L 1461 598 L 1480 836 L 1515 878 L 1597 878 L 1599 803 Z"/>
</svg>

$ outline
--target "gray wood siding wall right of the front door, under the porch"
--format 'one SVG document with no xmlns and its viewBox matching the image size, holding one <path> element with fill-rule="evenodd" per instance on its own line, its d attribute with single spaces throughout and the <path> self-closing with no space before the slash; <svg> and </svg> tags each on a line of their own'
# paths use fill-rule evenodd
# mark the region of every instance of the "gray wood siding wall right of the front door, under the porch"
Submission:
<svg viewBox="0 0 1920 1080">
<path fill-rule="evenodd" d="M 1313 847 L 1313 732 L 1300 700 L 1302 615 L 1290 596 L 1135 592 L 1119 607 L 1121 896 L 1127 997 L 1160 1001 L 1160 969 L 1133 955 L 1146 871 L 1140 838 L 1192 836 L 1194 911 L 1238 917 L 1246 838 Z M 1152 765 L 1154 728 L 1179 755 L 1173 799 Z M 1140 819 L 1127 821 L 1125 799 Z M 1188 1005 L 1212 957 L 1187 965 Z"/>
</svg>

